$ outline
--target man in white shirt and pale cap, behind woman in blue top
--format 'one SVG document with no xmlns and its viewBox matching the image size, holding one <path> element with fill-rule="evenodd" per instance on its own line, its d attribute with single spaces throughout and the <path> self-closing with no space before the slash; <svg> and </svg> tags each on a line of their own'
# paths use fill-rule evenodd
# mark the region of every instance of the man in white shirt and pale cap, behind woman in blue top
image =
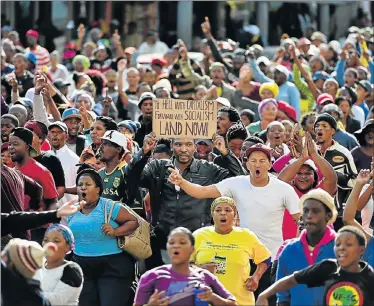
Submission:
<svg viewBox="0 0 374 306">
<path fill-rule="evenodd" d="M 58 157 L 64 169 L 65 176 L 65 195 L 59 200 L 58 204 L 62 205 L 71 200 L 78 200 L 76 196 L 76 178 L 77 164 L 79 157 L 66 144 L 68 138 L 68 128 L 64 122 L 55 121 L 48 127 L 48 139 L 52 150 L 48 151 Z"/>
</svg>

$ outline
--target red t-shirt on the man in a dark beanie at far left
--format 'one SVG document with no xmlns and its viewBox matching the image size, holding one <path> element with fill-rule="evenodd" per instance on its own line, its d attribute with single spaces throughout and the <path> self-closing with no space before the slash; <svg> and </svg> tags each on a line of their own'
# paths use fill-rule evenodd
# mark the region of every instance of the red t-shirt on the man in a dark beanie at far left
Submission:
<svg viewBox="0 0 374 306">
<path fill-rule="evenodd" d="M 33 158 L 30 158 L 30 160 L 25 165 L 18 168 L 18 170 L 24 175 L 34 179 L 43 187 L 43 199 L 58 198 L 53 176 L 42 164 L 39 164 Z M 24 210 L 29 209 L 29 200 L 30 198 L 25 195 Z"/>
</svg>

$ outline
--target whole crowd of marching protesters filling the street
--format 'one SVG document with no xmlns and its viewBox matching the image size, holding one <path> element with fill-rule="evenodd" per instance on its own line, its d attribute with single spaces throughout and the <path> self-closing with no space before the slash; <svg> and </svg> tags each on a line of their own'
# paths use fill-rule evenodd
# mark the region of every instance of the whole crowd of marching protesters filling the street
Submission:
<svg viewBox="0 0 374 306">
<path fill-rule="evenodd" d="M 201 59 L 3 33 L 4 306 L 374 305 L 373 29 L 274 58 L 201 29 Z M 156 99 L 215 101 L 216 133 L 160 138 Z M 142 222 L 144 258 L 118 240 Z"/>
</svg>

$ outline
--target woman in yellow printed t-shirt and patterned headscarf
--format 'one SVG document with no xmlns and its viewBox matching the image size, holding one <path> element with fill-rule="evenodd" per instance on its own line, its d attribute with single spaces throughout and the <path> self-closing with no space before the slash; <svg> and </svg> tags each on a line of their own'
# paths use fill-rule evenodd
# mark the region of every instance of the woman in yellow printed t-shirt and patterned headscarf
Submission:
<svg viewBox="0 0 374 306">
<path fill-rule="evenodd" d="M 214 226 L 193 233 L 195 252 L 191 262 L 214 273 L 233 294 L 238 305 L 254 305 L 253 292 L 271 264 L 270 251 L 246 228 L 236 227 L 238 210 L 229 197 L 217 198 L 211 206 Z M 249 259 L 257 265 L 250 276 Z"/>
</svg>

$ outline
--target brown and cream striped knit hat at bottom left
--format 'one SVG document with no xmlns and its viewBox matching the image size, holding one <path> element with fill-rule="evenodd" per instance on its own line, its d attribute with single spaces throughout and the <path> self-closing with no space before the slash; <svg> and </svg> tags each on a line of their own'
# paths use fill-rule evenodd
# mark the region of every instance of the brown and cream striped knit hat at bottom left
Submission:
<svg viewBox="0 0 374 306">
<path fill-rule="evenodd" d="M 25 278 L 32 278 L 36 270 L 43 265 L 43 257 L 50 256 L 57 250 L 54 243 L 47 243 L 44 248 L 35 241 L 12 239 L 4 249 L 15 268 Z"/>
</svg>

